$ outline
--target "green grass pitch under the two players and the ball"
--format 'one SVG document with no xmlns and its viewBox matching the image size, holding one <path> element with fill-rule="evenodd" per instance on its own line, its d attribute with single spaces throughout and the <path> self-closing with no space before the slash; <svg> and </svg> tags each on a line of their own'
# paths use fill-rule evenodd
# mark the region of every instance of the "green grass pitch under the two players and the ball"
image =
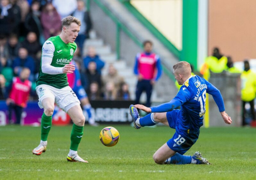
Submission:
<svg viewBox="0 0 256 180">
<path fill-rule="evenodd" d="M 72 126 L 53 126 L 40 156 L 32 154 L 40 127 L 0 127 L 0 179 L 256 179 L 255 128 L 201 128 L 185 155 L 200 151 L 212 165 L 158 165 L 152 156 L 174 130 L 111 125 L 120 140 L 105 147 L 99 141 L 105 126 L 85 126 L 78 153 L 89 163 L 66 161 Z"/>
</svg>

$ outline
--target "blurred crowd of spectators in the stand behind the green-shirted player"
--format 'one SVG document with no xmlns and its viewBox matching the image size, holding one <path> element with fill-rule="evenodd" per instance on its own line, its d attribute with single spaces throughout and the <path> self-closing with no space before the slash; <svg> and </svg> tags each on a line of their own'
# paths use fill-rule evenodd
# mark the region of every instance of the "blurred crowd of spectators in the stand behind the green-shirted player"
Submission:
<svg viewBox="0 0 256 180">
<path fill-rule="evenodd" d="M 105 65 L 94 47 L 83 53 L 83 45 L 92 27 L 83 0 L 0 0 L 0 99 L 7 99 L 14 80 L 24 68 L 29 69 L 30 100 L 37 100 L 35 91 L 43 43 L 61 32 L 61 19 L 73 15 L 81 20 L 73 60 L 81 74 L 81 84 L 90 100 L 130 100 L 129 87 L 109 65 L 108 74 L 101 75 Z M 22 80 L 21 80 L 22 81 Z M 13 107 L 13 106 L 12 106 Z"/>
</svg>

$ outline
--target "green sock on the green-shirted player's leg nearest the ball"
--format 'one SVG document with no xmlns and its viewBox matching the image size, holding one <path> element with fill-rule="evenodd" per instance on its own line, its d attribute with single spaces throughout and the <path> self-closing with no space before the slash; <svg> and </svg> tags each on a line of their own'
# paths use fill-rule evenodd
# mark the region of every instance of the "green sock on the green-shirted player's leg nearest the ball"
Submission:
<svg viewBox="0 0 256 180">
<path fill-rule="evenodd" d="M 73 151 L 77 151 L 78 145 L 82 139 L 83 136 L 83 126 L 77 126 L 75 124 L 73 124 L 73 128 L 71 131 L 71 145 L 70 145 L 70 149 Z"/>
</svg>

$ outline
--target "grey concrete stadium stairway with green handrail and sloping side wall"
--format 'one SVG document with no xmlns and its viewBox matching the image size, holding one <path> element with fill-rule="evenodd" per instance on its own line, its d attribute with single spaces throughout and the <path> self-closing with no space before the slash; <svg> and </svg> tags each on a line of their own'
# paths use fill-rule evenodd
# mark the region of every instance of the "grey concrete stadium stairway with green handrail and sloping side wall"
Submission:
<svg viewBox="0 0 256 180">
<path fill-rule="evenodd" d="M 161 58 L 164 73 L 154 86 L 153 102 L 167 102 L 173 98 L 177 89 L 172 75 L 173 64 L 179 61 L 175 53 L 154 36 L 149 28 L 144 26 L 120 0 L 90 0 L 90 15 L 93 22 L 94 34 L 86 42 L 87 46 L 95 46 L 97 53 L 106 61 L 103 75 L 107 73 L 108 64 L 113 63 L 119 75 L 129 84 L 132 99 L 135 98 L 137 79 L 133 74 L 134 58 L 141 52 L 142 42 L 151 40 L 154 52 Z M 143 93 L 141 101 L 146 100 Z"/>
</svg>

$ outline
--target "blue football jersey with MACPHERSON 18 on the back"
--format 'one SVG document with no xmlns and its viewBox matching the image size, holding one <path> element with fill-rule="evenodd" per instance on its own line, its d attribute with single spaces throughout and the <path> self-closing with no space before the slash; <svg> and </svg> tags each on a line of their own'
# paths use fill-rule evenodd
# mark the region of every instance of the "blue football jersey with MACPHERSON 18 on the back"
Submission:
<svg viewBox="0 0 256 180">
<path fill-rule="evenodd" d="M 203 115 L 206 112 L 206 93 L 213 95 L 220 112 L 224 111 L 224 102 L 219 90 L 207 80 L 194 75 L 191 76 L 181 87 L 175 100 L 181 101 L 180 123 L 176 129 L 198 131 L 203 125 Z"/>
</svg>

